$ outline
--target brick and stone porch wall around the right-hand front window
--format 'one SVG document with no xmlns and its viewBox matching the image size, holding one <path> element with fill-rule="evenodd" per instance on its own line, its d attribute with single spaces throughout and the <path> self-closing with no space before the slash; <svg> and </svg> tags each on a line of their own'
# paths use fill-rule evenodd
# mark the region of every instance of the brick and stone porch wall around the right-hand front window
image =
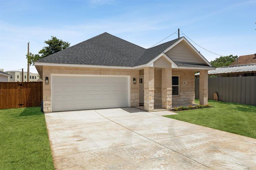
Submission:
<svg viewBox="0 0 256 170">
<path fill-rule="evenodd" d="M 195 71 L 173 69 L 172 76 L 180 76 L 180 95 L 172 96 L 172 105 L 193 103 L 195 101 Z"/>
</svg>

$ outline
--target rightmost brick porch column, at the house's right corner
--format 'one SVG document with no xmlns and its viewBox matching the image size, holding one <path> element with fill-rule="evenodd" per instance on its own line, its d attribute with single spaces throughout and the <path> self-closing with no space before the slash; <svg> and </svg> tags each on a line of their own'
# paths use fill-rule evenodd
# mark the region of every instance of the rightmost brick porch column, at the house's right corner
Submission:
<svg viewBox="0 0 256 170">
<path fill-rule="evenodd" d="M 199 75 L 199 103 L 208 103 L 208 70 L 201 70 Z"/>
</svg>

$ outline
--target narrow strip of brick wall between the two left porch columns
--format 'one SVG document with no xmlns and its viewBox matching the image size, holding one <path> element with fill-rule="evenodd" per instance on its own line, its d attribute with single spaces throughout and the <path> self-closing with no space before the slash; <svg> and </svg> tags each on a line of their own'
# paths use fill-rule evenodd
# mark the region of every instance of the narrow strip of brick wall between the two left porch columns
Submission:
<svg viewBox="0 0 256 170">
<path fill-rule="evenodd" d="M 154 74 L 154 106 L 161 106 L 162 105 L 162 69 L 155 69 Z"/>
</svg>

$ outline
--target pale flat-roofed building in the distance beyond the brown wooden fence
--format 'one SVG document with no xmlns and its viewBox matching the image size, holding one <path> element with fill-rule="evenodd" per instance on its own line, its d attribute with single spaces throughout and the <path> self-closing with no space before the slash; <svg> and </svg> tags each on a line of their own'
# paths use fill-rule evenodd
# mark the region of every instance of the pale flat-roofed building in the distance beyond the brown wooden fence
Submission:
<svg viewBox="0 0 256 170">
<path fill-rule="evenodd" d="M 5 73 L 8 73 L 11 75 L 9 77 L 9 82 L 22 82 L 22 71 L 5 71 Z M 27 73 L 28 72 L 23 72 L 23 81 L 27 82 Z M 38 73 L 30 73 L 29 72 L 29 81 L 30 82 L 35 82 L 37 81 L 39 74 Z"/>
</svg>

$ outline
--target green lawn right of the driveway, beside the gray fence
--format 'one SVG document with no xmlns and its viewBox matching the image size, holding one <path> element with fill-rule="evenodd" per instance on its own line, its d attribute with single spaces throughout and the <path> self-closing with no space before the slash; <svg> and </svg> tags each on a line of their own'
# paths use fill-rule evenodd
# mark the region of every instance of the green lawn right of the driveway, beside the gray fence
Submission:
<svg viewBox="0 0 256 170">
<path fill-rule="evenodd" d="M 214 100 L 208 102 L 214 107 L 180 111 L 165 117 L 256 138 L 256 106 Z"/>
</svg>

